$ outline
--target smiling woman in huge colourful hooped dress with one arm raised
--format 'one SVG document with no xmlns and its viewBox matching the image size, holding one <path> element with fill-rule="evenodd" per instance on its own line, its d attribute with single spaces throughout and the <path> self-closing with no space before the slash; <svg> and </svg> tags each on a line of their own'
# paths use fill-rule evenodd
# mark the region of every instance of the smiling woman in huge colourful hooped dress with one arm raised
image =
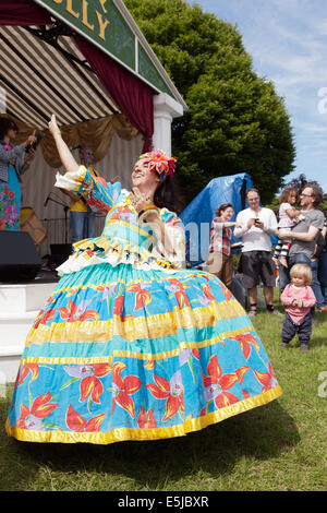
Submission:
<svg viewBox="0 0 327 513">
<path fill-rule="evenodd" d="M 128 192 L 76 164 L 55 116 L 49 128 L 66 170 L 57 187 L 108 215 L 100 237 L 74 244 L 27 336 L 8 434 L 98 444 L 180 437 L 278 397 L 243 308 L 216 276 L 182 269 L 183 226 L 164 206 L 174 158 L 141 155 Z"/>
</svg>

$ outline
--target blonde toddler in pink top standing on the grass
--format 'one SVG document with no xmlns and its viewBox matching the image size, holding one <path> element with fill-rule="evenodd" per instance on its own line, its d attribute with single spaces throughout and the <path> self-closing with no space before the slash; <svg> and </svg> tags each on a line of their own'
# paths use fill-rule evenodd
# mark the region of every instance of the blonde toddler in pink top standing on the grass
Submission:
<svg viewBox="0 0 327 513">
<path fill-rule="evenodd" d="M 311 308 L 315 306 L 316 298 L 311 288 L 312 272 L 306 264 L 292 266 L 291 283 L 286 286 L 280 296 L 286 306 L 286 318 L 282 324 L 281 347 L 289 347 L 289 343 L 298 332 L 300 349 L 308 351 L 308 341 L 312 332 Z"/>
</svg>

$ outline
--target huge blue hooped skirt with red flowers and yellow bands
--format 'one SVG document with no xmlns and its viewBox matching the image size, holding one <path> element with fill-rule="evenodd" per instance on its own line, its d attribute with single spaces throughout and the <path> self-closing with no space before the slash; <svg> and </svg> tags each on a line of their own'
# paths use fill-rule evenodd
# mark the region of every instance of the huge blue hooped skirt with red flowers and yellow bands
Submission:
<svg viewBox="0 0 327 513">
<path fill-rule="evenodd" d="M 29 442 L 180 437 L 281 394 L 214 275 L 109 263 L 64 275 L 32 327 L 7 432 Z"/>
</svg>

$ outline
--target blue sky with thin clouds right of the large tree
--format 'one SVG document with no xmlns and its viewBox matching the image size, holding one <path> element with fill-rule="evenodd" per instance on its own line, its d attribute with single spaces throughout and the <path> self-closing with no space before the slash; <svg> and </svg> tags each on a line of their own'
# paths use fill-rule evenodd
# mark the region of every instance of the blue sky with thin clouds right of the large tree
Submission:
<svg viewBox="0 0 327 513">
<path fill-rule="evenodd" d="M 189 3 L 193 4 L 193 1 Z M 253 69 L 275 84 L 291 119 L 296 158 L 286 182 L 304 174 L 327 192 L 326 0 L 197 0 L 237 25 Z"/>
</svg>

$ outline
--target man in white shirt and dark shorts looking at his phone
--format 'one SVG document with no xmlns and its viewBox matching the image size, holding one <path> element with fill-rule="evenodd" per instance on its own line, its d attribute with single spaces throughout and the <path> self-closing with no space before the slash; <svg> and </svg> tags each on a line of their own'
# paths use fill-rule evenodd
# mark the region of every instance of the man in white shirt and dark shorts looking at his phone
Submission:
<svg viewBox="0 0 327 513">
<path fill-rule="evenodd" d="M 264 296 L 267 312 L 281 315 L 274 309 L 274 287 L 276 284 L 276 267 L 272 261 L 271 235 L 277 229 L 277 218 L 270 208 L 261 206 L 261 196 L 257 189 L 246 191 L 249 208 L 241 211 L 237 217 L 234 236 L 242 238 L 241 271 L 243 284 L 247 289 L 250 302 L 250 317 L 256 314 L 257 286 L 259 278 L 264 284 Z"/>
</svg>

